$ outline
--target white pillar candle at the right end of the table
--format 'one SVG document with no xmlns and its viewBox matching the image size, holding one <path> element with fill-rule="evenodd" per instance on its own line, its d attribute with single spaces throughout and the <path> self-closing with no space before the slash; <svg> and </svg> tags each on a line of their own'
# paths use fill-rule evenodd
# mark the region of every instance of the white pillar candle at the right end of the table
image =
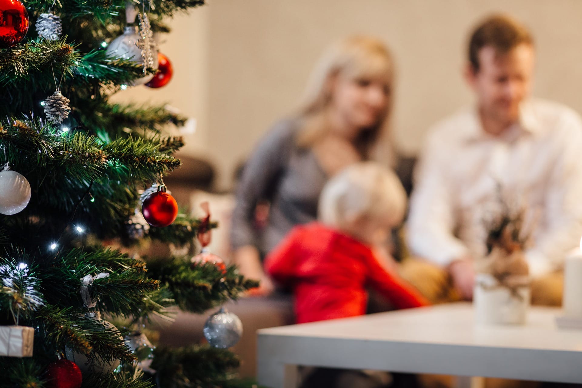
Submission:
<svg viewBox="0 0 582 388">
<path fill-rule="evenodd" d="M 580 250 L 566 258 L 562 307 L 565 316 L 582 318 L 582 239 Z"/>
</svg>

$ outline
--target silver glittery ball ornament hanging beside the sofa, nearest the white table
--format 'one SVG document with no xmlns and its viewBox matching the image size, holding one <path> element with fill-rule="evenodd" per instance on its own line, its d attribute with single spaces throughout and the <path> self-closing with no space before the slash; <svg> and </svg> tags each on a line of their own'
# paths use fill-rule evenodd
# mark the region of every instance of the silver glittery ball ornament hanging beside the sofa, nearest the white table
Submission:
<svg viewBox="0 0 582 388">
<path fill-rule="evenodd" d="M 236 314 L 221 308 L 204 323 L 204 337 L 216 348 L 235 346 L 243 335 L 243 323 Z"/>
</svg>

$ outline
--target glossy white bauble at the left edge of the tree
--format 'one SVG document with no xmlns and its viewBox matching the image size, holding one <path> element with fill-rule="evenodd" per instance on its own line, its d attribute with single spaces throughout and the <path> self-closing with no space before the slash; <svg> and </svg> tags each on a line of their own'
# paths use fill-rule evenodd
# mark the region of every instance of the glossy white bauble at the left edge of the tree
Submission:
<svg viewBox="0 0 582 388">
<path fill-rule="evenodd" d="M 30 201 L 30 183 L 8 166 L 0 171 L 0 213 L 12 215 L 22 212 Z"/>
</svg>

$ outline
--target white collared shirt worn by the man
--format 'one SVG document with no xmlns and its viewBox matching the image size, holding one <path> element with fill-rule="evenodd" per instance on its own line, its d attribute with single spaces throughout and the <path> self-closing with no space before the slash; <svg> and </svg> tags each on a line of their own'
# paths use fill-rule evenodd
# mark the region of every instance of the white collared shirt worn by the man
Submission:
<svg viewBox="0 0 582 388">
<path fill-rule="evenodd" d="M 559 269 L 582 236 L 582 120 L 566 106 L 528 101 L 500 136 L 485 133 L 475 108 L 464 109 L 429 131 L 415 178 L 410 249 L 439 265 L 487 253 L 499 193 L 525 209 L 533 276 Z"/>
</svg>

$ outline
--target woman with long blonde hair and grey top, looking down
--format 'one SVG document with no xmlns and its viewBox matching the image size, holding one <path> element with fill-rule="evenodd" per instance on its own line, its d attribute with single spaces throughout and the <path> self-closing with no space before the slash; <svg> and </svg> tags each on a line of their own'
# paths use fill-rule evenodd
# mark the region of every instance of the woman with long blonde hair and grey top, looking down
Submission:
<svg viewBox="0 0 582 388">
<path fill-rule="evenodd" d="M 384 43 L 349 37 L 330 47 L 307 84 L 304 103 L 269 130 L 247 162 L 236 193 L 231 243 L 240 272 L 274 290 L 262 260 L 293 226 L 317 218 L 321 190 L 354 162 L 392 164 L 388 121 L 393 64 Z M 257 204 L 270 204 L 262 233 Z"/>
</svg>

